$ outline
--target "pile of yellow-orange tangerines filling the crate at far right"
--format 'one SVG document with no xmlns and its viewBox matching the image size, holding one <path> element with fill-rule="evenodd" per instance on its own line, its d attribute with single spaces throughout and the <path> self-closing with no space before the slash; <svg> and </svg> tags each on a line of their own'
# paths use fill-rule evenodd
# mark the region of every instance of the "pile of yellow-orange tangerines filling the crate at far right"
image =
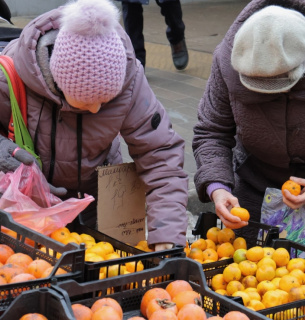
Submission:
<svg viewBox="0 0 305 320">
<path fill-rule="evenodd" d="M 213 276 L 210 285 L 219 294 L 241 297 L 256 311 L 279 306 L 305 299 L 305 260 L 291 259 L 285 248 L 255 246 Z"/>
</svg>

